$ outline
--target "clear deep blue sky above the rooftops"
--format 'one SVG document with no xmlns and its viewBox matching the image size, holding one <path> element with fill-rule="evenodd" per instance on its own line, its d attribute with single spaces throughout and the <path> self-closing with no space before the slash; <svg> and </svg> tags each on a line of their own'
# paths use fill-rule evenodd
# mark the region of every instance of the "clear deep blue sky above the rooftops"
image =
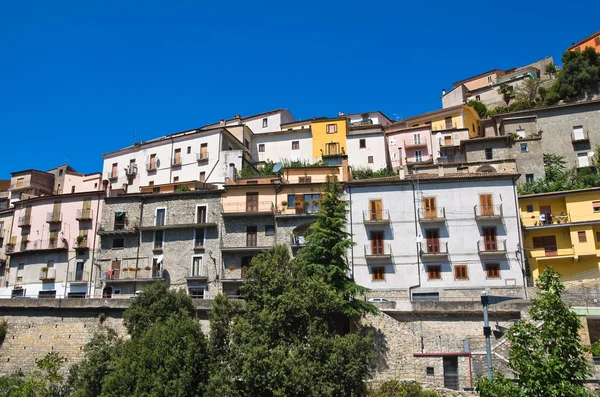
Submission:
<svg viewBox="0 0 600 397">
<path fill-rule="evenodd" d="M 600 29 L 591 0 L 488 3 L 3 1 L 0 179 L 99 171 L 135 130 L 148 140 L 238 113 L 407 117 L 462 78 L 560 63 Z"/>
</svg>

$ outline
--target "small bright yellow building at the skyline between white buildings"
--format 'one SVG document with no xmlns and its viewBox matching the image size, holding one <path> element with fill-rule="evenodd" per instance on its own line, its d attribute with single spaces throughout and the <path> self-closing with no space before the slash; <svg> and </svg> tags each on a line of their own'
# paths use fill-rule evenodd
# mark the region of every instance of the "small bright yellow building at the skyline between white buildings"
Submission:
<svg viewBox="0 0 600 397">
<path fill-rule="evenodd" d="M 313 158 L 338 156 L 348 153 L 346 133 L 348 121 L 345 116 L 311 120 Z"/>
</svg>

